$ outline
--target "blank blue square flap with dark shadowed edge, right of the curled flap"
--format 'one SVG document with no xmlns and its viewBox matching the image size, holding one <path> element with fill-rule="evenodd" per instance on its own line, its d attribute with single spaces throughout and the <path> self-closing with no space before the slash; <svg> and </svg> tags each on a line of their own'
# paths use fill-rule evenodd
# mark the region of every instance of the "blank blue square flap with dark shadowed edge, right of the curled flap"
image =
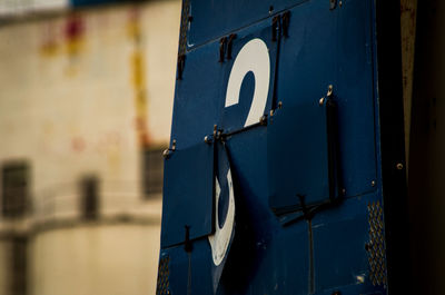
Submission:
<svg viewBox="0 0 445 295">
<path fill-rule="evenodd" d="M 329 188 L 328 105 L 318 99 L 293 102 L 278 109 L 267 128 L 269 203 L 276 213 L 334 197 Z"/>
</svg>

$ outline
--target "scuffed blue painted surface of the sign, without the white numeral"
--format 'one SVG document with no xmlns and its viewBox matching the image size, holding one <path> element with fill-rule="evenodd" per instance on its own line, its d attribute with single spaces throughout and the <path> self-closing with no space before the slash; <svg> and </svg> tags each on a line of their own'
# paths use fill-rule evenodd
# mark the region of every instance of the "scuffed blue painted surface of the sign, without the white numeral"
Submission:
<svg viewBox="0 0 445 295">
<path fill-rule="evenodd" d="M 175 155 L 187 158 L 190 147 L 206 146 L 204 138 L 214 138 L 215 125 L 217 134 L 222 135 L 243 128 L 256 79 L 255 72 L 247 73 L 239 104 L 225 108 L 234 60 L 255 38 L 266 43 L 270 58 L 264 109 L 267 126 L 222 136 L 235 186 L 236 233 L 215 294 L 386 294 L 386 283 L 373 282 L 369 263 L 374 259 L 370 224 L 376 222 L 369 218 L 369 206 L 384 206 L 374 1 L 343 0 L 333 10 L 328 0 L 185 3 L 190 6 L 192 19 L 186 24 L 186 61 L 176 86 L 171 131 Z M 290 12 L 288 37 L 278 33 L 273 41 L 273 19 L 286 11 Z M 230 33 L 237 35 L 233 59 L 219 62 L 219 38 Z M 340 186 L 336 191 L 343 193 L 334 199 L 329 198 L 326 156 L 329 130 L 323 121 L 325 106 L 318 104 L 329 85 L 334 87 L 332 100 L 338 118 L 339 170 L 335 177 Z M 281 108 L 275 109 L 278 105 Z M 308 142 L 313 142 L 313 149 Z M 196 166 L 210 160 L 199 153 L 190 157 Z M 215 157 L 218 160 L 217 154 Z M 208 176 L 216 174 L 198 177 L 190 173 L 191 165 L 169 165 L 172 159 L 166 160 L 165 191 L 177 193 L 165 193 L 164 216 L 171 215 L 180 195 L 177 186 L 181 180 L 172 176 L 170 167 L 196 178 L 189 179 L 190 189 L 207 185 Z M 178 228 L 209 216 L 215 222 L 215 207 L 205 212 L 202 204 L 192 200 L 194 194 L 188 194 L 189 206 L 175 213 Z M 306 207 L 298 194 L 307 197 Z M 206 208 L 208 201 L 215 203 L 215 196 L 209 197 Z M 289 204 L 296 205 L 290 212 L 274 210 Z M 384 233 L 384 224 L 378 226 Z M 170 293 L 214 294 L 207 237 L 195 236 L 189 253 L 184 243 L 184 234 L 162 224 L 160 255 L 170 257 Z M 385 249 L 378 255 L 386 260 Z M 385 267 L 380 274 L 386 279 Z"/>
</svg>

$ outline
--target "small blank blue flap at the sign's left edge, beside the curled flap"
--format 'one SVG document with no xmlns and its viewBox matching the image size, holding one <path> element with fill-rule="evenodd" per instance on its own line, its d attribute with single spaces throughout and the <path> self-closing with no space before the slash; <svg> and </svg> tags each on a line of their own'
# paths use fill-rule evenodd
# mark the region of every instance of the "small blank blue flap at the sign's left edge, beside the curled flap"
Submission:
<svg viewBox="0 0 445 295">
<path fill-rule="evenodd" d="M 176 150 L 165 161 L 161 246 L 211 234 L 214 146 L 200 144 Z"/>
</svg>

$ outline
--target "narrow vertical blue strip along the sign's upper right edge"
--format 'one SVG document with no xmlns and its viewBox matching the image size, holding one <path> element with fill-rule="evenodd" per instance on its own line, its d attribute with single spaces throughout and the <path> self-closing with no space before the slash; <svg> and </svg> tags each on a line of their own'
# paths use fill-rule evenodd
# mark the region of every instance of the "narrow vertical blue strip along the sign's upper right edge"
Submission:
<svg viewBox="0 0 445 295">
<path fill-rule="evenodd" d="M 377 85 L 373 58 L 374 1 L 347 0 L 339 10 L 337 87 L 339 151 L 347 196 L 373 191 L 376 173 L 374 107 Z"/>
</svg>

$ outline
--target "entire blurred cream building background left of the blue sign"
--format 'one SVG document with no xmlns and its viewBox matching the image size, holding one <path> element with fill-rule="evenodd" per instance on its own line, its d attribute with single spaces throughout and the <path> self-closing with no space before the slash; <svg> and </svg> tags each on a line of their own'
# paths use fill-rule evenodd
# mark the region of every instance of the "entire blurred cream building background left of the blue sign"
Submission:
<svg viewBox="0 0 445 295">
<path fill-rule="evenodd" d="M 155 294 L 180 0 L 0 0 L 0 295 Z"/>
</svg>

